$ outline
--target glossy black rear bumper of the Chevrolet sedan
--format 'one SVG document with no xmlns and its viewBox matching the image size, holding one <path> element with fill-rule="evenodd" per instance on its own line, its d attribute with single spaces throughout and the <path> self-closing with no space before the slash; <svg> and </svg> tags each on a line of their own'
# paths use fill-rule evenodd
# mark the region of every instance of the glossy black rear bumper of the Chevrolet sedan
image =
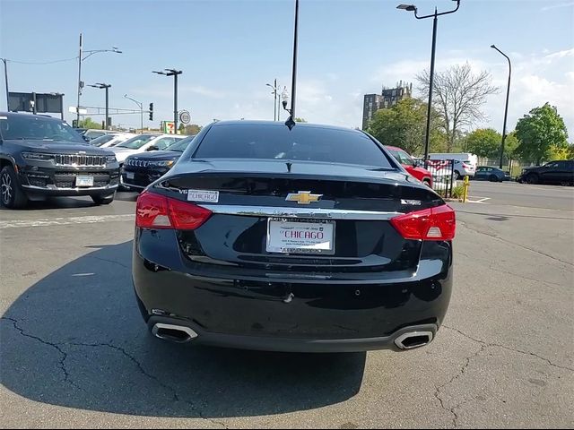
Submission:
<svg viewBox="0 0 574 430">
<path fill-rule="evenodd" d="M 216 264 L 186 262 L 163 236 L 172 233 L 145 232 L 144 242 L 153 246 L 136 235 L 135 293 L 146 322 L 189 327 L 197 343 L 300 352 L 396 349 L 394 340 L 405 331 L 436 333 L 448 309 L 448 242 L 423 249 L 416 273 L 311 280 L 240 268 L 223 274 Z"/>
</svg>

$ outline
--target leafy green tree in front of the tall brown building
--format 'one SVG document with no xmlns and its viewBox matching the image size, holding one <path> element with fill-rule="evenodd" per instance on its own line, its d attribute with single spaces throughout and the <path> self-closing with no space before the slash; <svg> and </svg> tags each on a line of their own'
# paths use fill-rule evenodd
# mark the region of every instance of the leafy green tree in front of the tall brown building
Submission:
<svg viewBox="0 0 574 430">
<path fill-rule="evenodd" d="M 431 151 L 446 149 L 448 140 L 439 131 L 439 121 L 435 120 L 431 129 Z M 424 151 L 424 136 L 426 133 L 427 104 L 421 99 L 406 98 L 398 101 L 388 109 L 379 109 L 367 127 L 378 142 L 385 145 L 397 146 L 410 154 L 419 155 Z"/>
</svg>

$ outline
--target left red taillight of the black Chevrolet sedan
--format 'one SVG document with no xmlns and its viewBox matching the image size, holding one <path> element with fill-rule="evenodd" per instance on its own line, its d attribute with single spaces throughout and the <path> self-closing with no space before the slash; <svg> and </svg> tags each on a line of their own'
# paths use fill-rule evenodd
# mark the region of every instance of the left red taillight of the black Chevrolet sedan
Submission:
<svg viewBox="0 0 574 430">
<path fill-rule="evenodd" d="M 145 191 L 137 198 L 135 225 L 141 228 L 194 230 L 211 215 L 212 211 L 194 203 Z"/>
</svg>

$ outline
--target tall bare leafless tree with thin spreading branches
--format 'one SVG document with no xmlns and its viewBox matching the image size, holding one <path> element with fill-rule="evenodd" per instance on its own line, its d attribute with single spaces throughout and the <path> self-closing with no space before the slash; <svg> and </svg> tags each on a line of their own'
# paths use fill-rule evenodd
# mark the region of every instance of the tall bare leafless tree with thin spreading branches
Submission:
<svg viewBox="0 0 574 430">
<path fill-rule="evenodd" d="M 422 93 L 429 93 L 429 78 L 428 70 L 416 75 Z M 435 73 L 433 86 L 432 104 L 443 120 L 450 151 L 463 128 L 485 118 L 481 107 L 487 96 L 496 94 L 499 89 L 491 85 L 491 73 L 474 74 L 468 63 Z"/>
</svg>

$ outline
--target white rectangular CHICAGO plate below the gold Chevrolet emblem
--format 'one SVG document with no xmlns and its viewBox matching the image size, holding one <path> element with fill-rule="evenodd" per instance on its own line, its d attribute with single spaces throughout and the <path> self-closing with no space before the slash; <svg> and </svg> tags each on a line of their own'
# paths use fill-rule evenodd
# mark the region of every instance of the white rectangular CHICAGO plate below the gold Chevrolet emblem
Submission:
<svg viewBox="0 0 574 430">
<path fill-rule="evenodd" d="M 282 231 L 299 228 L 299 232 L 323 233 L 330 236 L 330 240 L 321 243 L 321 238 L 311 238 L 304 245 L 305 237 L 281 238 Z M 332 219 L 291 219 L 268 218 L 267 235 L 265 238 L 265 251 L 273 254 L 335 254 L 335 221 Z M 327 244 L 327 245 L 326 245 Z M 306 247 L 309 246 L 309 247 Z"/>
</svg>

